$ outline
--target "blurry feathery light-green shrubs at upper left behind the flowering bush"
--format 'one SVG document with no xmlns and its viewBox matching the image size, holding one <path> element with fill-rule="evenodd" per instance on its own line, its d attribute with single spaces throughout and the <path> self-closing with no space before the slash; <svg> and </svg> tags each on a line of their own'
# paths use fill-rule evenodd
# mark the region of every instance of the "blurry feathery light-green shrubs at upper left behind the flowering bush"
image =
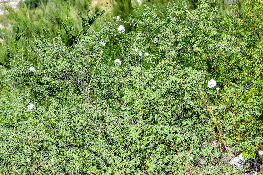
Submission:
<svg viewBox="0 0 263 175">
<path fill-rule="evenodd" d="M 89 0 L 44 2 L 26 0 L 16 10 L 6 7 L 8 14 L 0 17 L 0 65 L 8 66 L 18 48 L 24 50 L 25 55 L 30 54 L 27 47 L 30 47 L 36 36 L 44 35 L 50 41 L 60 36 L 66 45 L 72 45 L 74 35 L 81 31 L 81 18 L 87 18 Z M 33 8 L 35 4 L 38 4 L 36 9 Z M 88 12 L 90 16 L 93 14 Z"/>
</svg>

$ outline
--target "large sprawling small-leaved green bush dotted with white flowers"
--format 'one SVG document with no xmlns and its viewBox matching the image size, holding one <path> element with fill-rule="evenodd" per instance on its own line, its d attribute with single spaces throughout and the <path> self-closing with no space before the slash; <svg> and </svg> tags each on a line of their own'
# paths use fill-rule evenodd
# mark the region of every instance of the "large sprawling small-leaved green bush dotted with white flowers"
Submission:
<svg viewBox="0 0 263 175">
<path fill-rule="evenodd" d="M 1 70 L 1 173 L 262 173 L 263 4 L 220 17 L 214 1 L 157 11 L 88 13 L 66 43 L 22 38 Z"/>
</svg>

